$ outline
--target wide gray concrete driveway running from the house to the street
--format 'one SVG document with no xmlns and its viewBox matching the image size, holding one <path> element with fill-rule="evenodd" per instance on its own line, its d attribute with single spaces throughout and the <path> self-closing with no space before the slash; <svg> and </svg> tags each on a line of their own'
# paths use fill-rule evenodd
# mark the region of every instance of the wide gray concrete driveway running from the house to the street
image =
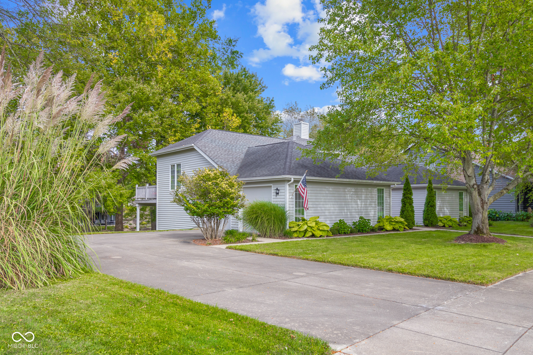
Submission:
<svg viewBox="0 0 533 355">
<path fill-rule="evenodd" d="M 533 273 L 482 287 L 196 238 L 198 230 L 100 234 L 88 244 L 102 273 L 309 333 L 345 354 L 533 354 Z"/>
</svg>

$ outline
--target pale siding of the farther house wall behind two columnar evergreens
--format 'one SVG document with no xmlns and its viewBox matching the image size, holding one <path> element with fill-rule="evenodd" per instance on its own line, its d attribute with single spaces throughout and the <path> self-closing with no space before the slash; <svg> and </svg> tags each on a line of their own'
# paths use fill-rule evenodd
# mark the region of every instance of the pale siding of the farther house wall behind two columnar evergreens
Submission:
<svg viewBox="0 0 533 355">
<path fill-rule="evenodd" d="M 413 188 L 413 205 L 415 207 L 415 222 L 417 225 L 423 223 L 424 203 L 426 201 L 426 187 Z M 437 191 L 437 216 L 451 216 L 459 218 L 459 191 L 463 191 L 463 209 L 464 214 L 468 214 L 468 206 L 466 204 L 466 188 L 458 189 L 448 187 L 446 192 L 441 188 L 435 187 Z M 392 189 L 392 215 L 400 216 L 402 187 L 395 187 Z"/>
</svg>

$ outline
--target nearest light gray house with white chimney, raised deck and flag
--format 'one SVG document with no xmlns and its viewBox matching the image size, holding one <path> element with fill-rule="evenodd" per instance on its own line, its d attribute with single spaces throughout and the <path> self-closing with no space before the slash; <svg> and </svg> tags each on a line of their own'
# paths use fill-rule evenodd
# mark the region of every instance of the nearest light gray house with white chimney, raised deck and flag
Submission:
<svg viewBox="0 0 533 355">
<path fill-rule="evenodd" d="M 157 157 L 157 186 L 138 187 L 134 202 L 157 206 L 156 229 L 196 227 L 172 202 L 176 177 L 181 172 L 223 167 L 245 181 L 248 201 L 285 205 L 295 219 L 320 216 L 332 225 L 341 218 L 351 223 L 364 216 L 375 223 L 378 216 L 391 214 L 392 185 L 400 180 L 384 175 L 367 178 L 365 169 L 353 167 L 336 178 L 340 170 L 332 163 L 313 164 L 302 158 L 298 148 L 310 141 L 309 124 L 303 121 L 296 123 L 294 136 L 287 139 L 208 129 L 151 153 Z M 302 197 L 293 192 L 306 170 L 309 210 L 304 212 Z M 242 229 L 235 218 L 228 227 Z"/>
</svg>

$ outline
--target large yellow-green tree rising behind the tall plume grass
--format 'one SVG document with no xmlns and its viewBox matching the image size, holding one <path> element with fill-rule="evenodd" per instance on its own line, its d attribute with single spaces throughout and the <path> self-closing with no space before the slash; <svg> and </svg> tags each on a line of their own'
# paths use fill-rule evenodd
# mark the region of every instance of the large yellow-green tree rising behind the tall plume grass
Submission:
<svg viewBox="0 0 533 355">
<path fill-rule="evenodd" d="M 78 92 L 91 75 L 103 80 L 109 113 L 133 102 L 130 113 L 110 133 L 127 137 L 109 157 L 110 164 L 113 159 L 139 158 L 117 179 L 132 193 L 135 184 L 156 183 L 156 160 L 148 153 L 161 146 L 207 128 L 279 133 L 273 100 L 261 96 L 266 87 L 254 73 L 236 71 L 242 54 L 235 39 L 217 34 L 215 22 L 206 16 L 209 2 L 42 4 L 28 0 L 9 11 L 0 5 L 0 42 L 12 49 L 8 53 L 15 73 L 25 72 L 45 49 L 48 65 L 77 75 Z M 117 211 L 116 228 L 122 230 L 123 203 L 112 210 Z"/>
</svg>

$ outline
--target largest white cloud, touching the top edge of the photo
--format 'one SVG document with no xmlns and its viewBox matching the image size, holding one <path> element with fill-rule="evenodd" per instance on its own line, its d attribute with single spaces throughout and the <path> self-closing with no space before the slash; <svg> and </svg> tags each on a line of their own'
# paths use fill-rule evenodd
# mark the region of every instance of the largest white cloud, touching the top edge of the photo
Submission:
<svg viewBox="0 0 533 355">
<path fill-rule="evenodd" d="M 257 23 L 257 36 L 263 38 L 265 48 L 255 49 L 248 58 L 252 65 L 278 56 L 290 56 L 306 62 L 309 47 L 318 41 L 318 16 L 324 11 L 318 0 L 314 9 L 306 10 L 302 0 L 265 0 L 252 9 Z M 295 36 L 290 33 L 295 32 Z"/>
</svg>

